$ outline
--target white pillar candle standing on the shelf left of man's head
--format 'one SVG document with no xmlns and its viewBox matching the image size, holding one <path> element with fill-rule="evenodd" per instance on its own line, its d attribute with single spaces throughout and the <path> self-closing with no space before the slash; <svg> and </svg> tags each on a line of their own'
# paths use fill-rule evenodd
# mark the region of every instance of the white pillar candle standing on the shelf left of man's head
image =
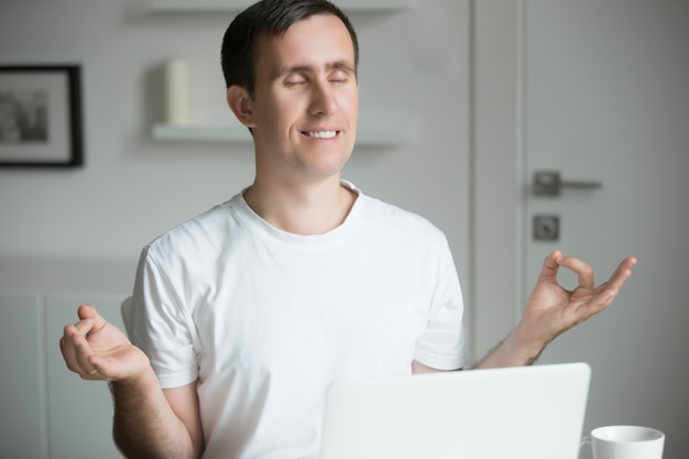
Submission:
<svg viewBox="0 0 689 459">
<path fill-rule="evenodd" d="M 184 59 L 174 58 L 164 67 L 165 122 L 188 124 L 192 119 L 189 94 L 189 66 Z"/>
</svg>

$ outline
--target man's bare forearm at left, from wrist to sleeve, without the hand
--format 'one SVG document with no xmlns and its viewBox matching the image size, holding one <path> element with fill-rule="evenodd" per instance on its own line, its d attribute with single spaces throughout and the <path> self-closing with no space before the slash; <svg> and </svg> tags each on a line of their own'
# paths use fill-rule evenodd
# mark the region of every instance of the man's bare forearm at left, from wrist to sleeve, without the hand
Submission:
<svg viewBox="0 0 689 459">
<path fill-rule="evenodd" d="M 127 458 L 197 459 L 200 445 L 171 408 L 151 369 L 135 381 L 112 383 L 112 435 Z"/>
</svg>

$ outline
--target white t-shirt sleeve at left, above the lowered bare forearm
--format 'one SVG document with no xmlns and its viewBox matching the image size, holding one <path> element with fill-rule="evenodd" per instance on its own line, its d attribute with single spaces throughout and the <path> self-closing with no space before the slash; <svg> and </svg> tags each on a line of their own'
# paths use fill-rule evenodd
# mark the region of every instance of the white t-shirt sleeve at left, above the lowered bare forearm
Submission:
<svg viewBox="0 0 689 459">
<path fill-rule="evenodd" d="M 158 265 L 150 247 L 141 253 L 132 296 L 132 342 L 151 361 L 163 389 L 178 387 L 198 378 L 197 340 L 184 305 L 182 267 Z"/>
</svg>

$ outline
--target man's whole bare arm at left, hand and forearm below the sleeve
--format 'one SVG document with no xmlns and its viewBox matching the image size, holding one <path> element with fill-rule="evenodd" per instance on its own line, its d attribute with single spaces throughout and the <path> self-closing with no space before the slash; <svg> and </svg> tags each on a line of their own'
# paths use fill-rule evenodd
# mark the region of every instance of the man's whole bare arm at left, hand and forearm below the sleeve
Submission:
<svg viewBox="0 0 689 459">
<path fill-rule="evenodd" d="M 90 305 L 59 340 L 67 368 L 85 380 L 111 381 L 112 435 L 125 457 L 199 458 L 204 433 L 196 382 L 161 390 L 149 358 Z"/>
</svg>

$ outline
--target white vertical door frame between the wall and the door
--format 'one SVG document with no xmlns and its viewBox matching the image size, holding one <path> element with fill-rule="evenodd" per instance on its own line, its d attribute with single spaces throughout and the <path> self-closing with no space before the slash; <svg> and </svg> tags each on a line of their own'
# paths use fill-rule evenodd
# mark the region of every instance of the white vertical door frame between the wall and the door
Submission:
<svg viewBox="0 0 689 459">
<path fill-rule="evenodd" d="M 524 292 L 524 1 L 473 0 L 470 352 L 480 359 L 521 318 Z"/>
</svg>

